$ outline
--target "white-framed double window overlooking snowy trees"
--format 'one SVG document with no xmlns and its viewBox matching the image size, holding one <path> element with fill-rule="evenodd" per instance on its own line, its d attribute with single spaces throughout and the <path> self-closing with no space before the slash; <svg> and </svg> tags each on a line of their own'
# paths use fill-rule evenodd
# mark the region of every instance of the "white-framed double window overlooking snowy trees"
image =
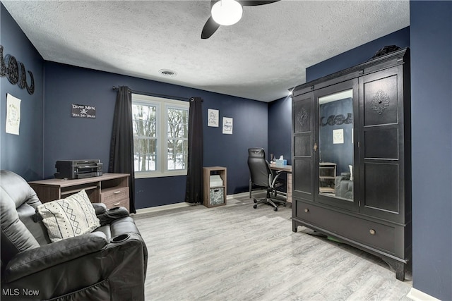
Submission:
<svg viewBox="0 0 452 301">
<path fill-rule="evenodd" d="M 136 178 L 186 175 L 189 102 L 132 94 Z"/>
</svg>

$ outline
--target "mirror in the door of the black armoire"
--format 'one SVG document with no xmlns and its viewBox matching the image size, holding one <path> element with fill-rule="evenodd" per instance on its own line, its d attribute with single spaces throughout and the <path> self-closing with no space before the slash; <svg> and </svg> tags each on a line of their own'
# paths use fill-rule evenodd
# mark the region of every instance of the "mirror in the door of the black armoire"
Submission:
<svg viewBox="0 0 452 301">
<path fill-rule="evenodd" d="M 355 202 L 355 119 L 357 80 L 317 90 L 316 183 L 318 201 L 357 210 Z M 355 99 L 355 102 L 354 102 Z"/>
</svg>

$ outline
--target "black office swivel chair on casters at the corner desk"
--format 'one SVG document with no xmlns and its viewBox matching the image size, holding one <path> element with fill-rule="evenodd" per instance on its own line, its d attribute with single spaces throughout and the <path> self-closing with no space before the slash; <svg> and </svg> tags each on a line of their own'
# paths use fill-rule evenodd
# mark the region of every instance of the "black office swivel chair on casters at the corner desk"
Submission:
<svg viewBox="0 0 452 301">
<path fill-rule="evenodd" d="M 254 209 L 257 208 L 257 204 L 261 203 L 272 206 L 275 211 L 278 211 L 278 204 L 283 204 L 285 206 L 285 199 L 275 199 L 278 195 L 278 191 L 276 189 L 285 185 L 283 179 L 280 179 L 280 174 L 283 171 L 277 171 L 273 174 L 273 171 L 270 169 L 270 165 L 266 160 L 266 153 L 263 149 L 248 149 L 248 167 L 251 184 L 256 185 L 258 188 L 267 190 L 265 198 L 254 199 Z M 270 195 L 273 195 L 273 198 Z"/>
</svg>

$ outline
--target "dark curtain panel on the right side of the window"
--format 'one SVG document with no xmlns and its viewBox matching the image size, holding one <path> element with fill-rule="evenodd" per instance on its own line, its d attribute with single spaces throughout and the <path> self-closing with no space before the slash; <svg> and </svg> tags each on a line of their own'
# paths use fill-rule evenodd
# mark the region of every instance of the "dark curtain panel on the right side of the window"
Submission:
<svg viewBox="0 0 452 301">
<path fill-rule="evenodd" d="M 185 202 L 203 203 L 203 99 L 191 97 Z"/>
</svg>

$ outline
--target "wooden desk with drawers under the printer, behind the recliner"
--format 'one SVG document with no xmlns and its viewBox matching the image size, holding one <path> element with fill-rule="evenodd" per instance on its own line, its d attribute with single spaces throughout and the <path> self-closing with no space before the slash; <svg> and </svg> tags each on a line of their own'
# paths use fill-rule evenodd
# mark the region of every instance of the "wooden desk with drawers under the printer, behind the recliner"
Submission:
<svg viewBox="0 0 452 301">
<path fill-rule="evenodd" d="M 64 199 L 84 189 L 92 203 L 104 203 L 107 208 L 126 207 L 129 210 L 128 173 L 104 173 L 100 177 L 74 180 L 37 180 L 29 184 L 43 203 Z"/>
</svg>

